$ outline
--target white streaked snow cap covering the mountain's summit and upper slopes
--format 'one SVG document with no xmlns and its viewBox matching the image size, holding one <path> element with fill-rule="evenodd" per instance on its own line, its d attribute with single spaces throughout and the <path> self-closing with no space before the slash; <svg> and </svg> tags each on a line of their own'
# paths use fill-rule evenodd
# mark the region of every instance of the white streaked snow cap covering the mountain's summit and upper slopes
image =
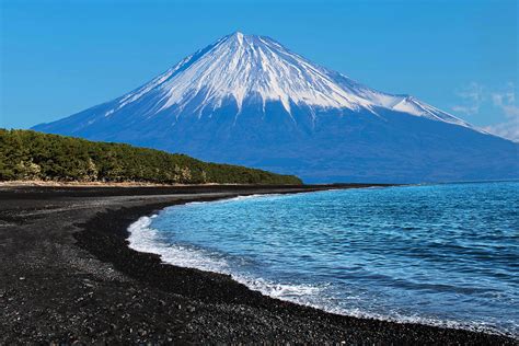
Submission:
<svg viewBox="0 0 519 346">
<path fill-rule="evenodd" d="M 280 102 L 289 114 L 291 105 L 364 109 L 374 114 L 377 107 L 384 107 L 470 126 L 411 96 L 382 93 L 316 66 L 269 37 L 245 35 L 239 31 L 186 57 L 149 83 L 118 99 L 105 116 L 142 101 L 147 95 L 152 96 L 153 104 L 147 107 L 146 116 L 169 108 L 182 111 L 194 101 L 198 114 L 221 107 L 229 101 L 235 102 L 240 114 L 247 100 L 261 102 L 263 109 L 267 102 Z"/>
</svg>

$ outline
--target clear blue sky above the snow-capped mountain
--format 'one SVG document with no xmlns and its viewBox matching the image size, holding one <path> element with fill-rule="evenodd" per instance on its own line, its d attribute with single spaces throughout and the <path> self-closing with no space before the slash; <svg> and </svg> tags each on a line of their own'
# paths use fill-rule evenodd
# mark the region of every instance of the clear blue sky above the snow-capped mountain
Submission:
<svg viewBox="0 0 519 346">
<path fill-rule="evenodd" d="M 112 100 L 241 31 L 519 139 L 518 3 L 0 0 L 0 127 Z"/>
</svg>

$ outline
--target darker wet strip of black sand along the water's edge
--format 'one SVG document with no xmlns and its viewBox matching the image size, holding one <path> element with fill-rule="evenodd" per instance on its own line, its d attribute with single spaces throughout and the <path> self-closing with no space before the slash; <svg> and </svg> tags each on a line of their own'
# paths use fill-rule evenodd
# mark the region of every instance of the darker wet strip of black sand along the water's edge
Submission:
<svg viewBox="0 0 519 346">
<path fill-rule="evenodd" d="M 194 199 L 194 200 L 186 200 L 185 203 L 191 201 L 211 201 L 218 200 L 221 198 L 210 198 L 210 199 Z M 166 205 L 165 207 L 170 207 L 173 205 L 180 204 L 172 204 Z M 159 212 L 162 210 L 162 206 L 148 206 L 142 208 L 129 209 L 124 210 L 124 217 L 132 221 L 129 223 L 124 223 L 124 229 L 119 230 L 118 237 L 120 240 L 127 241 L 128 233 L 128 226 L 136 221 L 136 218 L 140 218 L 143 215 L 150 216 Z M 130 215 L 134 218 L 129 217 Z M 106 218 L 109 218 L 109 215 L 106 215 Z M 120 216 L 119 216 L 120 217 Z M 104 219 L 104 218 L 103 218 Z M 106 219 L 105 219 L 106 220 Z M 97 220 L 97 222 L 103 222 L 103 220 Z M 100 223 L 97 223 L 100 224 Z M 88 227 L 90 228 L 90 227 Z M 251 290 L 249 287 L 233 280 L 229 275 L 212 273 L 212 272 L 204 272 L 196 268 L 187 268 L 187 267 L 178 267 L 172 264 L 165 264 L 160 258 L 160 255 L 150 254 L 150 253 L 141 253 L 137 252 L 132 249 L 130 251 L 136 252 L 140 258 L 148 261 L 149 267 L 147 269 L 151 269 L 148 273 L 139 273 L 137 276 L 140 279 L 147 280 L 148 282 L 152 282 L 161 289 L 168 290 L 170 292 L 174 292 L 177 295 L 182 295 L 184 297 L 189 297 L 194 299 L 199 299 L 203 302 L 207 303 L 232 303 L 232 304 L 247 304 L 254 307 L 261 307 L 266 309 L 267 311 L 275 311 L 280 312 L 279 310 L 292 310 L 293 313 L 299 313 L 304 318 L 316 318 L 318 320 L 326 319 L 330 322 L 334 322 L 333 326 L 336 327 L 336 323 L 344 325 L 345 330 L 350 327 L 358 327 L 362 325 L 364 327 L 368 326 L 368 331 L 362 331 L 362 334 L 368 332 L 368 335 L 373 334 L 382 334 L 383 337 L 380 338 L 380 342 L 424 342 L 427 341 L 432 343 L 438 342 L 446 342 L 446 343 L 503 343 L 504 339 L 508 339 L 508 337 L 497 334 L 487 334 L 483 332 L 474 332 L 469 330 L 461 330 L 461 328 L 448 328 L 448 327 L 440 327 L 440 326 L 432 326 L 432 325 L 425 325 L 425 324 L 417 324 L 417 323 L 399 323 L 392 321 L 382 321 L 382 320 L 374 320 L 374 319 L 360 319 L 355 316 L 347 316 L 347 315 L 339 315 L 325 312 L 320 309 L 315 309 L 312 307 L 301 305 L 289 301 L 279 300 L 276 298 L 263 296 L 258 291 Z M 138 260 L 138 261 L 139 261 Z M 159 266 L 158 266 L 159 265 Z M 160 266 L 164 266 L 166 268 L 161 268 Z M 151 274 L 153 269 L 157 270 L 155 273 Z M 185 275 L 189 277 L 189 280 L 183 281 L 182 286 L 177 286 L 163 278 L 155 277 L 155 274 L 162 274 L 164 276 L 171 275 Z M 209 281 L 203 282 L 201 281 Z M 291 312 L 291 313 L 292 313 Z M 290 313 L 290 314 L 291 314 Z M 285 313 L 284 313 L 285 314 Z M 364 330 L 362 327 L 362 330 Z M 381 332 L 382 331 L 382 332 Z M 357 331 L 357 333 L 360 331 Z M 400 333 L 404 333 L 403 335 Z M 343 333 L 338 333 L 342 335 Z M 385 334 L 385 335 L 384 335 Z M 371 339 L 372 336 L 366 335 L 360 339 L 355 338 L 356 342 Z M 494 337 L 496 338 L 495 341 Z M 504 339 L 500 339 L 504 337 Z M 346 335 L 339 338 L 332 338 L 335 341 L 339 339 L 348 339 Z M 499 341 L 498 341 L 499 339 Z"/>
</svg>

